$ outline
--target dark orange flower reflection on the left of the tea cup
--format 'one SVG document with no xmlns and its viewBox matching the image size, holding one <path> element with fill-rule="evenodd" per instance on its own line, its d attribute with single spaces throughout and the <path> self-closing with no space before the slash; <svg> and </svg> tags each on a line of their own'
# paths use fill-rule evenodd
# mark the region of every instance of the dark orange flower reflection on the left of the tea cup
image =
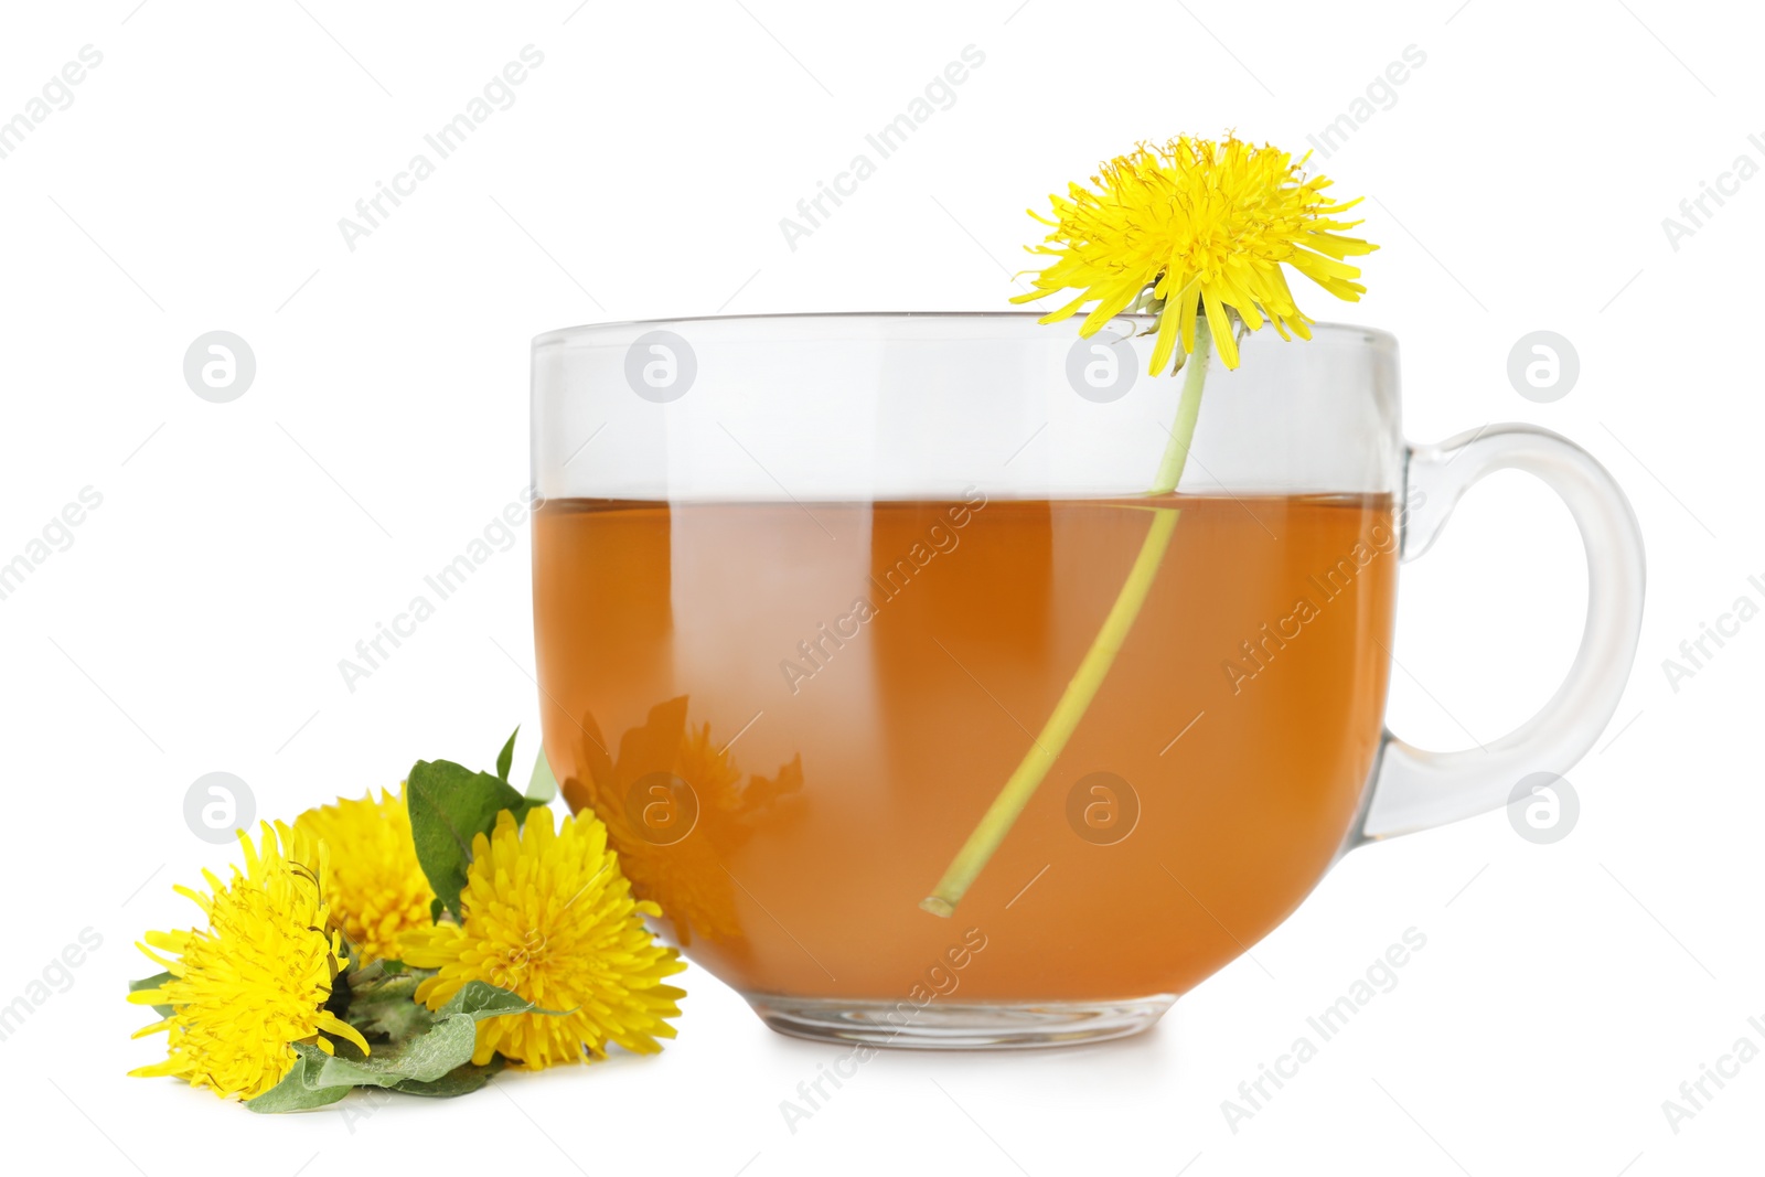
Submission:
<svg viewBox="0 0 1765 1177">
<path fill-rule="evenodd" d="M 687 695 L 680 695 L 627 731 L 614 761 L 595 716 L 586 715 L 579 762 L 590 776 L 561 783 L 572 810 L 593 806 L 607 824 L 632 889 L 660 903 L 681 944 L 694 935 L 741 935 L 736 881 L 722 863 L 752 833 L 752 817 L 803 785 L 800 755 L 777 775 L 755 773 L 743 783 L 729 743 L 718 745 L 710 723 L 692 727 Z"/>
</svg>

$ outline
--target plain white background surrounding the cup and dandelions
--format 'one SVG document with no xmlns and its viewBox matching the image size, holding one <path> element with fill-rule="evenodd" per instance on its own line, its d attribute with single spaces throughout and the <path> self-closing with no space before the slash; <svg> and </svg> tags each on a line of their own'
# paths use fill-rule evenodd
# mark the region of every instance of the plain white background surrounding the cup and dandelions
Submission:
<svg viewBox="0 0 1765 1177">
<path fill-rule="evenodd" d="M 102 65 L 0 159 L 0 559 L 81 487 L 102 506 L 0 600 L 11 1152 L 85 1172 L 1677 1173 L 1758 1168 L 1765 1061 L 1673 1133 L 1661 1103 L 1765 1016 L 1754 896 L 1765 619 L 1675 692 L 1663 658 L 1765 602 L 1756 334 L 1765 178 L 1675 251 L 1661 226 L 1765 132 L 1744 5 L 632 5 L 108 0 L 5 5 L 0 118 L 81 46 Z M 337 229 L 526 44 L 545 62 L 351 252 Z M 985 65 L 810 238 L 778 219 L 964 46 Z M 1394 332 L 1407 429 L 1527 420 L 1592 450 L 1649 542 L 1649 612 L 1578 828 L 1490 813 L 1363 849 L 1151 1034 L 1022 1055 L 888 1053 L 791 1133 L 833 1048 L 761 1027 L 699 971 L 658 1059 L 503 1076 L 371 1119 L 259 1119 L 127 1080 L 131 948 L 226 861 L 185 828 L 201 773 L 265 815 L 537 731 L 528 538 L 349 693 L 337 660 L 512 501 L 528 339 L 581 321 L 997 309 L 1025 205 L 1140 138 L 1304 150 L 1405 46 L 1426 64 L 1322 169 L 1366 192 L 1371 293 L 1315 318 Z M 1296 286 L 1297 289 L 1297 286 Z M 185 386 L 245 337 L 231 404 Z M 1581 376 L 1521 399 L 1506 358 L 1564 334 Z M 1569 663 L 1567 514 L 1498 475 L 1405 572 L 1391 725 L 1431 746 L 1523 720 Z M 530 762 L 531 739 L 521 753 Z M 1428 937 L 1234 1133 L 1237 1098 L 1405 928 Z M 1156 935 L 1156 928 L 1147 928 Z M 357 1108 L 362 1110 L 362 1108 Z"/>
</svg>

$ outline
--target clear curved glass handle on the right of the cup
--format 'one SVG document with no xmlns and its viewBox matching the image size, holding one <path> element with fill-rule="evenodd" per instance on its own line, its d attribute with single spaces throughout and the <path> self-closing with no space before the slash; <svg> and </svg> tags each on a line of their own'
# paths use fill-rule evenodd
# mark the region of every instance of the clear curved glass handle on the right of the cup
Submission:
<svg viewBox="0 0 1765 1177">
<path fill-rule="evenodd" d="M 1463 752 L 1426 752 L 1386 731 L 1354 845 L 1444 826 L 1507 803 L 1530 773 L 1567 773 L 1611 722 L 1643 618 L 1643 536 L 1606 468 L 1530 425 L 1495 425 L 1408 446 L 1403 559 L 1428 551 L 1460 496 L 1497 469 L 1537 475 L 1562 496 L 1587 549 L 1587 626 L 1569 676 L 1530 720 Z"/>
</svg>

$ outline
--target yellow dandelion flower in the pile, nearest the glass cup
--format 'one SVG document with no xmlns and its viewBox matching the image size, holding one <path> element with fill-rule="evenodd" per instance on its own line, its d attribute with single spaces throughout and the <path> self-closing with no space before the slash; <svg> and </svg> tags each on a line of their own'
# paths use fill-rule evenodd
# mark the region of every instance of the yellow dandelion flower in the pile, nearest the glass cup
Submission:
<svg viewBox="0 0 1765 1177">
<path fill-rule="evenodd" d="M 560 1013 L 517 1013 L 478 1022 L 473 1062 L 501 1053 L 517 1066 L 545 1068 L 605 1057 L 618 1043 L 635 1053 L 674 1038 L 687 993 L 664 985 L 680 972 L 680 953 L 650 935 L 642 916 L 662 909 L 632 896 L 593 813 L 552 828 L 551 810 L 528 813 L 522 829 L 505 810 L 496 829 L 471 843 L 461 893 L 464 923 L 439 923 L 399 937 L 406 963 L 438 969 L 417 1001 L 439 1009 L 466 985 L 489 981 Z"/>
</svg>

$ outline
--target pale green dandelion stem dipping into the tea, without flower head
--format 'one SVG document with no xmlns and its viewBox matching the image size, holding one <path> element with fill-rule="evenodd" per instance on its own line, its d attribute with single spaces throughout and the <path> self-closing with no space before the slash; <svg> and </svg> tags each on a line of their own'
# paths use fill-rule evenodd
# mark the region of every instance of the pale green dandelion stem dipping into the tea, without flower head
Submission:
<svg viewBox="0 0 1765 1177">
<path fill-rule="evenodd" d="M 1183 478 L 1183 468 L 1190 457 L 1190 441 L 1195 438 L 1195 422 L 1200 416 L 1202 385 L 1207 379 L 1211 342 L 1207 326 L 1202 323 L 1195 334 L 1195 353 L 1183 372 L 1183 397 L 1177 401 L 1175 427 L 1170 431 L 1170 443 L 1158 462 L 1158 475 L 1153 480 L 1153 489 L 1147 491 L 1149 496 L 1170 494 Z M 1024 812 L 1024 806 L 1029 805 L 1048 769 L 1061 757 L 1066 741 L 1071 739 L 1078 723 L 1085 718 L 1085 711 L 1091 709 L 1091 701 L 1096 699 L 1098 690 L 1103 686 L 1103 679 L 1108 678 L 1110 667 L 1115 663 L 1115 655 L 1121 653 L 1123 642 L 1128 641 L 1128 630 L 1133 628 L 1135 619 L 1140 616 L 1145 595 L 1153 589 L 1153 581 L 1158 579 L 1158 570 L 1165 563 L 1165 552 L 1170 549 L 1170 535 L 1175 531 L 1177 515 L 1181 514 L 1181 510 L 1172 506 L 1153 508 L 1153 526 L 1145 531 L 1145 540 L 1140 544 L 1140 554 L 1133 561 L 1133 570 L 1128 572 L 1128 581 L 1121 586 L 1121 593 L 1115 595 L 1115 603 L 1110 605 L 1108 616 L 1103 618 L 1103 628 L 1091 641 L 1091 649 L 1085 651 L 1078 671 L 1066 683 L 1061 701 L 1054 704 L 1054 713 L 1041 725 L 1041 734 L 1036 736 L 1029 752 L 1024 753 L 1024 761 L 1017 766 L 1017 771 L 1004 782 L 1004 789 L 999 791 L 994 803 L 987 806 L 987 813 L 981 815 L 980 824 L 974 826 L 974 833 L 957 851 L 950 868 L 944 870 L 944 877 L 937 881 L 937 888 L 920 900 L 920 907 L 925 911 L 946 919 L 955 914 L 957 903 L 962 902 L 974 879 L 987 868 L 999 843 L 1011 833 L 1018 813 Z"/>
</svg>

